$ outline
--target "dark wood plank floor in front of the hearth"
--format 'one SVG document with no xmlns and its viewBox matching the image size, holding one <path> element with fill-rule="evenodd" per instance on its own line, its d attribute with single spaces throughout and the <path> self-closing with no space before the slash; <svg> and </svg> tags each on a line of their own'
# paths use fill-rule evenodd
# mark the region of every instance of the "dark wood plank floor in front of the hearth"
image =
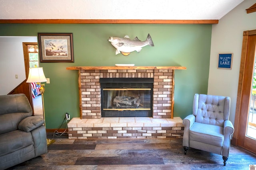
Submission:
<svg viewBox="0 0 256 170">
<path fill-rule="evenodd" d="M 48 135 L 48 138 L 52 135 Z M 226 166 L 222 156 L 189 148 L 182 139 L 70 140 L 54 137 L 48 153 L 28 160 L 14 170 L 249 170 L 256 155 L 231 146 Z"/>
</svg>

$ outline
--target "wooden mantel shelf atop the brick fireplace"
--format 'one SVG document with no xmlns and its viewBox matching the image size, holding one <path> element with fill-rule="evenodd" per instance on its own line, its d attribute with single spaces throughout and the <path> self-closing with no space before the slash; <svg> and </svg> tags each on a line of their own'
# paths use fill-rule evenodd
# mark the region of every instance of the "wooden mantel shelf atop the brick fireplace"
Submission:
<svg viewBox="0 0 256 170">
<path fill-rule="evenodd" d="M 186 70 L 184 66 L 71 66 L 67 70 Z"/>
</svg>

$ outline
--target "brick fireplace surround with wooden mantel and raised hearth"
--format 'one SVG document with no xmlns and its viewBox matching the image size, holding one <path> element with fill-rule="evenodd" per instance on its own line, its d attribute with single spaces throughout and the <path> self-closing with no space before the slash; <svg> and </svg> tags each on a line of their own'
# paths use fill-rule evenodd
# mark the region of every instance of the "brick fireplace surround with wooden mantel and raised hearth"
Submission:
<svg viewBox="0 0 256 170">
<path fill-rule="evenodd" d="M 80 119 L 72 119 L 68 123 L 70 139 L 108 139 L 108 138 L 143 138 L 153 136 L 177 137 L 182 136 L 182 122 L 173 119 L 174 107 L 174 70 L 186 69 L 179 66 L 75 66 L 67 70 L 78 70 L 78 86 L 80 96 Z M 102 118 L 101 115 L 101 87 L 100 78 L 150 78 L 153 79 L 152 117 L 142 118 Z M 95 121 L 93 121 L 95 119 Z M 158 119 L 158 121 L 154 120 Z M 104 124 L 105 120 L 105 124 Z M 111 122 L 112 120 L 112 122 Z M 121 120 L 121 122 L 120 122 Z M 140 123 L 139 121 L 140 120 Z M 154 122 L 162 122 L 154 123 Z M 175 122 L 174 120 L 178 120 Z M 79 122 L 80 121 L 80 122 Z M 110 122 L 108 122 L 110 121 Z M 84 123 L 86 122 L 86 123 Z M 92 123 L 88 127 L 89 122 Z M 124 122 L 124 123 L 122 123 Z M 128 123 L 134 123 L 128 127 Z M 82 124 L 84 123 L 84 125 Z M 98 124 L 97 124 L 98 123 Z M 102 123 L 101 125 L 99 123 Z M 108 124 L 109 123 L 109 124 Z M 119 123 L 119 126 L 118 126 Z M 138 124 L 139 123 L 139 124 Z M 111 124 L 113 125 L 111 127 Z M 143 124 L 143 125 L 142 125 Z M 172 127 L 175 124 L 174 127 Z M 95 127 L 96 125 L 96 127 Z M 130 126 L 132 124 L 129 124 Z M 144 126 L 146 125 L 146 127 Z M 177 127 L 179 125 L 180 127 Z M 82 127 L 84 126 L 84 127 Z M 168 127 L 170 126 L 170 127 Z M 162 128 L 166 130 L 162 130 Z M 104 130 L 103 130 L 104 129 Z M 113 130 L 118 129 L 118 130 Z M 127 130 L 129 129 L 129 130 Z M 154 130 L 153 130 L 154 129 Z M 135 132 L 136 131 L 136 132 Z M 139 133 L 142 131 L 143 133 Z M 167 133 L 167 131 L 169 133 Z M 177 131 L 179 132 L 177 135 Z M 110 133 L 113 132 L 113 133 Z M 119 133 L 118 133 L 119 132 Z M 130 132 L 130 133 L 128 133 Z M 172 133 L 173 134 L 172 134 Z M 88 135 L 89 134 L 89 135 Z M 113 135 L 114 134 L 114 135 Z M 129 134 L 129 135 L 127 135 Z M 143 135 L 144 134 L 144 135 Z M 150 134 L 150 135 L 149 135 Z M 168 134 L 168 135 L 167 135 Z"/>
</svg>

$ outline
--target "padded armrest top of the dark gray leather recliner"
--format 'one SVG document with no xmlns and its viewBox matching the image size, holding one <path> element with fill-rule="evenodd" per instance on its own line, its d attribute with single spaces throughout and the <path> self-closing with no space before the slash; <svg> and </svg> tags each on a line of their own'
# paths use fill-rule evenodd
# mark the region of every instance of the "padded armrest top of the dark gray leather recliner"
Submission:
<svg viewBox="0 0 256 170">
<path fill-rule="evenodd" d="M 42 119 L 41 117 L 30 116 L 20 121 L 18 125 L 18 129 L 25 132 L 30 132 L 36 129 L 37 127 L 42 126 L 43 124 L 44 124 L 44 119 Z"/>
</svg>

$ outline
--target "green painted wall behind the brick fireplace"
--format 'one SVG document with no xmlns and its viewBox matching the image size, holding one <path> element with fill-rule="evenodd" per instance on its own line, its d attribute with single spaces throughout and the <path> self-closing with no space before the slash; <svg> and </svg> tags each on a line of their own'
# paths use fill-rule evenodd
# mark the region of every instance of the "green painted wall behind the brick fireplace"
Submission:
<svg viewBox="0 0 256 170">
<path fill-rule="evenodd" d="M 38 32 L 73 33 L 74 63 L 40 63 L 50 78 L 44 93 L 46 128 L 59 128 L 68 112 L 79 117 L 78 71 L 68 66 L 186 66 L 175 70 L 174 116 L 192 113 L 195 93 L 207 93 L 212 25 L 192 24 L 0 24 L 0 36 L 36 36 Z M 127 57 L 115 55 L 110 36 L 138 37 L 150 33 L 154 47 Z M 61 127 L 65 128 L 65 126 Z"/>
</svg>

